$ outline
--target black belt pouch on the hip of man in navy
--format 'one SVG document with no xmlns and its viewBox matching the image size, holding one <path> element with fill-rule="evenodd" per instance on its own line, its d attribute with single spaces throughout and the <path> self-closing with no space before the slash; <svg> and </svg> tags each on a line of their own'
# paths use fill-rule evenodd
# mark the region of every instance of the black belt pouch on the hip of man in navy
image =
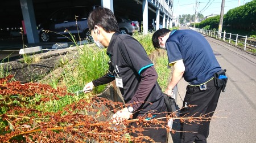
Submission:
<svg viewBox="0 0 256 143">
<path fill-rule="evenodd" d="M 214 73 L 214 85 L 219 88 L 222 87 L 221 88 L 222 92 L 225 92 L 226 83 L 228 82 L 228 77 L 226 77 L 225 79 L 219 79 L 220 75 L 226 76 L 226 70 L 220 70 Z"/>
</svg>

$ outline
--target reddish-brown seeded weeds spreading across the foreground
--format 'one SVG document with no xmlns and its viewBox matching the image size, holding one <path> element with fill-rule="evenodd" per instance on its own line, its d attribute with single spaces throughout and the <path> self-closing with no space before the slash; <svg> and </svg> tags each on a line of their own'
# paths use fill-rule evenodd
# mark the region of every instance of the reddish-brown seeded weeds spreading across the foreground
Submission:
<svg viewBox="0 0 256 143">
<path fill-rule="evenodd" d="M 65 88 L 53 89 L 49 85 L 36 83 L 20 84 L 18 81 L 9 82 L 10 79 L 11 76 L 0 79 L 1 142 L 142 142 L 142 139 L 154 142 L 141 134 L 144 129 L 152 128 L 151 125 L 162 125 L 159 128 L 175 133 L 166 125 L 170 118 L 187 124 L 200 124 L 212 119 L 208 114 L 189 118 L 177 118 L 170 114 L 151 120 L 145 117 L 123 120 L 122 125 L 113 125 L 115 119 L 109 117 L 125 107 L 121 102 L 92 96 L 84 98 L 66 92 Z M 71 100 L 69 97 L 75 98 Z M 61 99 L 67 104 L 56 106 L 58 104 L 54 102 Z M 56 110 L 48 105 L 54 105 Z M 147 117 L 153 115 L 151 113 Z M 142 123 L 143 126 L 130 127 L 131 122 Z M 131 132 L 138 133 L 138 137 L 127 136 Z"/>
</svg>

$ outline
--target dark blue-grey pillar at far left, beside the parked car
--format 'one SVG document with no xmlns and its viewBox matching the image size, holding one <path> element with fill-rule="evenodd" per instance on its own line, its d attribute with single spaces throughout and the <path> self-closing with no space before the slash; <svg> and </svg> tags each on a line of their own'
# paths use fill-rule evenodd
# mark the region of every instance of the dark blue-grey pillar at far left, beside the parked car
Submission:
<svg viewBox="0 0 256 143">
<path fill-rule="evenodd" d="M 20 6 L 22 9 L 22 15 L 24 20 L 24 25 L 27 33 L 27 41 L 29 44 L 34 44 L 39 42 L 39 33 L 36 28 L 36 20 L 34 14 L 34 7 L 32 0 L 20 0 Z M 20 21 L 22 23 L 22 21 Z"/>
</svg>

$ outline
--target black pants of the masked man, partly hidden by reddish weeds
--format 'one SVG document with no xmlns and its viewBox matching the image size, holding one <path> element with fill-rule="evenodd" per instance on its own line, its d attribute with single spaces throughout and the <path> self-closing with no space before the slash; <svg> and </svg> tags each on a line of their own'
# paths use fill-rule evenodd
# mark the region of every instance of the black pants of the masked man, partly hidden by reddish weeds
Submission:
<svg viewBox="0 0 256 143">
<path fill-rule="evenodd" d="M 166 106 L 163 106 L 162 110 L 159 112 L 167 112 Z M 144 116 L 144 114 L 139 114 L 138 116 Z M 165 117 L 166 113 L 163 114 L 156 114 L 156 116 L 154 118 L 160 118 L 160 117 Z M 166 121 L 166 119 L 163 119 L 164 121 Z M 131 123 L 130 124 L 133 127 L 138 127 L 137 123 Z M 139 124 L 142 125 L 142 124 Z M 164 126 L 167 126 L 167 122 Z M 150 138 L 152 138 L 155 142 L 161 142 L 161 143 L 165 143 L 167 142 L 167 130 L 164 128 L 159 128 L 159 129 L 155 129 L 154 127 L 162 127 L 162 125 L 143 125 L 143 127 L 146 127 L 144 129 L 143 136 L 149 136 Z M 150 127 L 150 128 L 147 128 Z M 152 128 L 153 127 L 153 128 Z M 131 133 L 131 136 L 137 137 L 138 134 L 137 133 Z M 144 142 L 151 142 L 148 140 L 142 140 Z M 135 142 L 134 142 L 135 143 Z"/>
</svg>

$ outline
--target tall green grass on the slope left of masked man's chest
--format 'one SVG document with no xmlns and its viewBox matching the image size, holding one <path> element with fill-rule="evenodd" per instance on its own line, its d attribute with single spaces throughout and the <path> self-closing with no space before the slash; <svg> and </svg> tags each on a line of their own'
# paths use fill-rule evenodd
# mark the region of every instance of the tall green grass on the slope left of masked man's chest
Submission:
<svg viewBox="0 0 256 143">
<path fill-rule="evenodd" d="M 77 53 L 71 60 L 63 57 L 60 59 L 63 71 L 53 73 L 48 83 L 53 88 L 67 86 L 68 92 L 76 92 L 84 88 L 86 83 L 98 79 L 108 71 L 109 58 L 106 50 L 95 46 L 83 45 L 78 48 Z M 68 61 L 68 62 L 67 62 Z M 106 85 L 94 88 L 95 93 L 100 93 Z"/>
</svg>

